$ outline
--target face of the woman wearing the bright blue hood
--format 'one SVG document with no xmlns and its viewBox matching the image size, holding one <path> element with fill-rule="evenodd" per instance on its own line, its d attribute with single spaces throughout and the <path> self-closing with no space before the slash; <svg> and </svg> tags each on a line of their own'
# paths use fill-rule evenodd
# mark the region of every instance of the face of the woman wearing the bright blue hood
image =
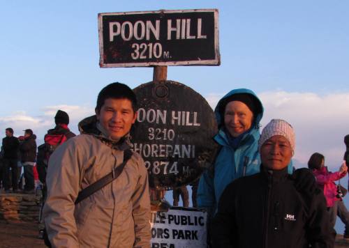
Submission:
<svg viewBox="0 0 349 248">
<path fill-rule="evenodd" d="M 238 137 L 250 129 L 253 113 L 244 102 L 228 102 L 224 111 L 224 125 L 232 137 Z"/>
</svg>

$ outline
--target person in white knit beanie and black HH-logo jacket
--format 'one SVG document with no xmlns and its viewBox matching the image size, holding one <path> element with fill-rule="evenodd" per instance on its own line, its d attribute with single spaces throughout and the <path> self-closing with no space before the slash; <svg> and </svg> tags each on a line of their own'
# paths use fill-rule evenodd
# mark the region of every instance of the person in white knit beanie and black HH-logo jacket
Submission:
<svg viewBox="0 0 349 248">
<path fill-rule="evenodd" d="M 212 224 L 213 247 L 333 247 L 325 196 L 311 171 L 288 174 L 295 152 L 291 125 L 272 120 L 258 146 L 260 173 L 235 180 L 221 196 Z"/>
</svg>

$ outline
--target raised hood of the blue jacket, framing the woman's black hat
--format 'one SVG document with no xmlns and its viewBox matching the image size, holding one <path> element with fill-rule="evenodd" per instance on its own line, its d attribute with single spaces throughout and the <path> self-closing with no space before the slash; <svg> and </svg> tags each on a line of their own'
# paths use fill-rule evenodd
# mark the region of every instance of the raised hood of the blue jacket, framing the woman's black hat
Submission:
<svg viewBox="0 0 349 248">
<path fill-rule="evenodd" d="M 221 100 L 219 100 L 216 108 L 214 109 L 214 114 L 216 115 L 216 121 L 217 121 L 218 127 L 221 127 L 223 125 L 224 116 L 221 113 L 220 109 L 223 108 L 223 104 L 225 104 L 225 99 L 230 98 L 232 95 L 242 94 L 242 93 L 251 95 L 252 98 L 255 99 L 255 102 L 257 102 L 259 104 L 257 109 L 259 109 L 260 111 L 258 112 L 258 114 L 256 114 L 254 116 L 253 125 L 252 125 L 252 126 L 256 127 L 257 129 L 259 128 L 260 120 L 262 119 L 264 108 L 263 108 L 262 102 L 260 102 L 257 95 L 255 95 L 255 93 L 253 91 L 249 90 L 248 88 L 234 89 L 234 90 L 230 91 L 229 93 L 227 93 L 226 95 L 224 95 L 223 98 L 221 98 Z"/>
</svg>

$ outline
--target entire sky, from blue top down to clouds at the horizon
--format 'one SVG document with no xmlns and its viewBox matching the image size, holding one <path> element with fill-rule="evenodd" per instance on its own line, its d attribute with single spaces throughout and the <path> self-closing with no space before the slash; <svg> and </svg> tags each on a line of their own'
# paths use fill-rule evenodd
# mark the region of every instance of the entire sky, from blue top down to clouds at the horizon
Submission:
<svg viewBox="0 0 349 248">
<path fill-rule="evenodd" d="M 3 1 L 0 129 L 32 128 L 42 141 L 64 109 L 77 132 L 103 86 L 151 81 L 152 68 L 99 68 L 98 13 L 193 8 L 219 10 L 221 65 L 169 67 L 168 79 L 211 107 L 251 88 L 265 105 L 262 124 L 295 127 L 297 167 L 318 151 L 338 169 L 349 133 L 348 1 Z"/>
</svg>

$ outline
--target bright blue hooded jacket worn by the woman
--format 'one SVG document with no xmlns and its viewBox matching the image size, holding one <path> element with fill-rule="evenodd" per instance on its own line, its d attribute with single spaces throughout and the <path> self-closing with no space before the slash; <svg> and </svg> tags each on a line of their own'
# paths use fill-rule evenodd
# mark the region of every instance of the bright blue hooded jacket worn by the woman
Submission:
<svg viewBox="0 0 349 248">
<path fill-rule="evenodd" d="M 257 107 L 259 112 L 253 118 L 251 128 L 242 134 L 242 137 L 239 137 L 237 147 L 232 148 L 229 142 L 230 138 L 225 133 L 222 125 L 224 116 L 222 116 L 223 113 L 220 110 L 224 107 L 223 104 L 226 104 L 226 98 L 241 93 L 250 94 L 260 106 Z M 220 129 L 214 140 L 221 148 L 214 161 L 213 168 L 205 171 L 200 178 L 197 198 L 199 208 L 207 208 L 211 214 L 214 214 L 221 194 L 228 184 L 237 178 L 253 175 L 260 171 L 258 140 L 260 139 L 260 120 L 263 111 L 262 102 L 260 102 L 257 95 L 246 88 L 232 90 L 219 100 L 214 113 Z M 288 166 L 288 172 L 292 173 L 292 162 Z"/>
</svg>

